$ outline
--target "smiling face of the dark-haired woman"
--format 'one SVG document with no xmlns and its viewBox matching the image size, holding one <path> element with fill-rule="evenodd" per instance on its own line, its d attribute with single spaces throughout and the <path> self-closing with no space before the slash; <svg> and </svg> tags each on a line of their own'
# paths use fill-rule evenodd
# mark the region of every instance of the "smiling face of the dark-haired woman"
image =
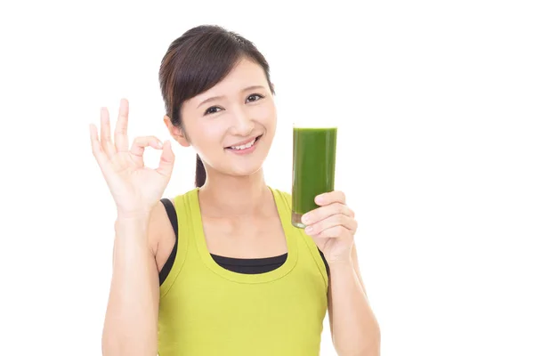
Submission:
<svg viewBox="0 0 534 356">
<path fill-rule="evenodd" d="M 207 170 L 248 175 L 263 166 L 276 123 L 263 68 L 244 59 L 220 83 L 183 103 L 182 124 L 189 141 L 179 142 L 192 145 Z"/>
</svg>

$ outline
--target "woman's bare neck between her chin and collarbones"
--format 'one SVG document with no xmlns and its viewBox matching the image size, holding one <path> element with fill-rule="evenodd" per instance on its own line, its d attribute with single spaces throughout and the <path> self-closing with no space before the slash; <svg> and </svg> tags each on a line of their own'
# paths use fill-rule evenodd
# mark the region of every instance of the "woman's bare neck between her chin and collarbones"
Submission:
<svg viewBox="0 0 534 356">
<path fill-rule="evenodd" d="M 247 176 L 220 174 L 208 168 L 206 183 L 198 198 L 206 216 L 250 216 L 263 211 L 271 190 L 263 179 L 263 169 Z"/>
</svg>

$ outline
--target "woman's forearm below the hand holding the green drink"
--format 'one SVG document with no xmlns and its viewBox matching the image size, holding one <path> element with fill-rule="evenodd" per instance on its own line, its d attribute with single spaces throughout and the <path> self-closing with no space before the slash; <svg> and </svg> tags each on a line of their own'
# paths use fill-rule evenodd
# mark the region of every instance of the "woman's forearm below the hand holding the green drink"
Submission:
<svg viewBox="0 0 534 356">
<path fill-rule="evenodd" d="M 357 271 L 352 260 L 330 265 L 332 339 L 340 356 L 376 356 L 380 328 Z"/>
</svg>

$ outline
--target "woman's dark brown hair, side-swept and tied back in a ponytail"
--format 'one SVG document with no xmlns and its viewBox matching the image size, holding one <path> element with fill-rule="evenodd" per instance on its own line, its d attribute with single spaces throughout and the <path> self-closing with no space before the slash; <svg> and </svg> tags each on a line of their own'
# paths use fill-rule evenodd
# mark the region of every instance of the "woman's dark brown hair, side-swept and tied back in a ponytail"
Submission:
<svg viewBox="0 0 534 356">
<path fill-rule="evenodd" d="M 202 25 L 190 28 L 169 45 L 159 69 L 159 85 L 166 115 L 174 126 L 182 125 L 182 105 L 204 93 L 226 77 L 243 58 L 262 66 L 274 93 L 269 64 L 255 44 L 223 27 Z M 186 134 L 187 138 L 187 134 Z M 189 140 L 189 139 L 188 139 Z M 206 182 L 206 169 L 197 155 L 195 186 Z"/>
</svg>

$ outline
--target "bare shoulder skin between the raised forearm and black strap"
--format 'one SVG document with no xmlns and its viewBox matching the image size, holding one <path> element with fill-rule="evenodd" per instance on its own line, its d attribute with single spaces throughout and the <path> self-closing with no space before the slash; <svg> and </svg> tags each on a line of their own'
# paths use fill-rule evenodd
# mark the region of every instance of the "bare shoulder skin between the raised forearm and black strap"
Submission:
<svg viewBox="0 0 534 356">
<path fill-rule="evenodd" d="M 169 198 L 174 205 L 174 199 Z M 149 247 L 156 258 L 158 271 L 161 271 L 174 247 L 176 237 L 173 225 L 166 213 L 166 208 L 161 201 L 158 202 L 150 214 L 149 223 Z"/>
</svg>

